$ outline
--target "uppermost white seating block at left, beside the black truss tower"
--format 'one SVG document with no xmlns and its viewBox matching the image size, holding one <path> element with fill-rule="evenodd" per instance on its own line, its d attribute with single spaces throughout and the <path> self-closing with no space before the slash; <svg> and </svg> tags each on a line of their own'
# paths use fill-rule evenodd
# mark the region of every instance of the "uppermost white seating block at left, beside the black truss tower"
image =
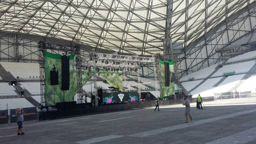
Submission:
<svg viewBox="0 0 256 144">
<path fill-rule="evenodd" d="M 0 62 L 6 71 L 9 71 L 15 78 L 39 78 L 39 64 L 38 63 L 19 63 L 19 62 Z"/>
</svg>

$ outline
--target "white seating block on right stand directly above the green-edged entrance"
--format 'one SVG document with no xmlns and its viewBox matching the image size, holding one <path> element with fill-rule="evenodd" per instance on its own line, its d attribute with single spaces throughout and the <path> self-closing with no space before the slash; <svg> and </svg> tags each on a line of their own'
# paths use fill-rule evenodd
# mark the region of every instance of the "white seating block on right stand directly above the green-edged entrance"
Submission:
<svg viewBox="0 0 256 144">
<path fill-rule="evenodd" d="M 224 65 L 220 68 L 216 73 L 214 73 L 211 77 L 222 76 L 224 72 L 235 71 L 237 73 L 246 73 L 248 72 L 252 66 L 255 64 L 255 61 L 246 61 L 241 63 L 235 63 L 231 65 Z"/>
</svg>

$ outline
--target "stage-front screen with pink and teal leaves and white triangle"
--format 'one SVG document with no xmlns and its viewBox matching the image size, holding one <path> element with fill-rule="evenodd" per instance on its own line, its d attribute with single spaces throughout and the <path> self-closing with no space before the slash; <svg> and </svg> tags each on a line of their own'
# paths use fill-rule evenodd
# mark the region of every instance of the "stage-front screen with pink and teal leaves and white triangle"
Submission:
<svg viewBox="0 0 256 144">
<path fill-rule="evenodd" d="M 138 101 L 138 92 L 109 92 L 102 94 L 103 103 Z"/>
</svg>

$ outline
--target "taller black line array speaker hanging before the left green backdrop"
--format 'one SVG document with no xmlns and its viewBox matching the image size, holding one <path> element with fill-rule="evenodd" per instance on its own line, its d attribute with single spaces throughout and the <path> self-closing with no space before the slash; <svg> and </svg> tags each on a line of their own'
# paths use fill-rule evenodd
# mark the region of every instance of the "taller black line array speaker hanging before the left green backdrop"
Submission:
<svg viewBox="0 0 256 144">
<path fill-rule="evenodd" d="M 61 90 L 69 90 L 69 56 L 61 56 Z"/>
</svg>

